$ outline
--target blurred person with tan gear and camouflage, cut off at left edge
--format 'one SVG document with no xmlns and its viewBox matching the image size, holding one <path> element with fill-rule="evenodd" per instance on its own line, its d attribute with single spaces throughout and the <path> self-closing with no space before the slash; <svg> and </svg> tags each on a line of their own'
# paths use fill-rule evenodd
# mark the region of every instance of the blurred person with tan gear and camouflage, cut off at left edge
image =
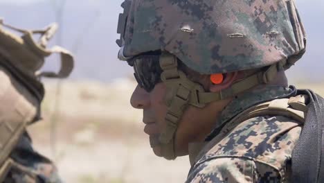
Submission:
<svg viewBox="0 0 324 183">
<path fill-rule="evenodd" d="M 44 87 L 39 78 L 65 78 L 73 69 L 68 51 L 59 46 L 46 49 L 56 30 L 56 24 L 44 30 L 21 30 L 0 19 L 0 182 L 61 182 L 53 163 L 33 150 L 26 132 L 28 125 L 41 119 Z M 40 35 L 39 42 L 34 34 Z M 44 58 L 52 53 L 61 55 L 59 73 L 40 72 Z"/>
</svg>

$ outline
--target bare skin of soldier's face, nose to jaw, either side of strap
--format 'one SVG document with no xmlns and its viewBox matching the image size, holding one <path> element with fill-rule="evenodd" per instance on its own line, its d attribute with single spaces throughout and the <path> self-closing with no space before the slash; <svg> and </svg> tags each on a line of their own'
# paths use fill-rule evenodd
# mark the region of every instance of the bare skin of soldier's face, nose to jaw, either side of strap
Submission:
<svg viewBox="0 0 324 183">
<path fill-rule="evenodd" d="M 136 87 L 132 94 L 131 104 L 137 109 L 143 110 L 144 132 L 151 138 L 159 138 L 161 130 L 165 126 L 165 114 L 167 106 L 163 101 L 165 95 L 163 82 L 156 84 L 152 92 L 146 92 L 141 87 Z M 210 103 L 203 109 L 188 107 L 184 112 L 175 138 L 176 155 L 188 155 L 188 144 L 204 141 L 210 129 L 215 125 L 217 116 L 222 110 L 217 103 Z M 161 156 L 161 147 L 153 148 L 155 155 Z"/>
</svg>

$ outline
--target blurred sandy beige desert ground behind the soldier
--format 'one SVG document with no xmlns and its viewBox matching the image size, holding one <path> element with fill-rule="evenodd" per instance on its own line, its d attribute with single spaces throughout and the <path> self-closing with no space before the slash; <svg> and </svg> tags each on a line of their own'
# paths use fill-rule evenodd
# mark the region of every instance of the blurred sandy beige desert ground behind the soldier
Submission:
<svg viewBox="0 0 324 183">
<path fill-rule="evenodd" d="M 136 83 L 45 81 L 44 119 L 31 125 L 35 149 L 57 164 L 64 182 L 184 182 L 188 157 L 153 155 L 141 110 L 129 105 Z M 303 84 L 324 95 L 324 85 Z"/>
</svg>

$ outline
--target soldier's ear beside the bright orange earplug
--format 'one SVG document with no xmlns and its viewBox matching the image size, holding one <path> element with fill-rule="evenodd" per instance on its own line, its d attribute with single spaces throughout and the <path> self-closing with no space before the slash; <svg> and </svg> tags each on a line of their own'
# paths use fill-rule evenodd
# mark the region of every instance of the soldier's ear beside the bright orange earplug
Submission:
<svg viewBox="0 0 324 183">
<path fill-rule="evenodd" d="M 210 92 L 220 92 L 223 89 L 226 89 L 230 87 L 233 82 L 237 79 L 238 71 L 232 72 L 232 73 L 224 73 L 224 79 L 219 84 L 214 84 L 212 81 L 210 81 L 209 85 L 209 91 Z"/>
</svg>

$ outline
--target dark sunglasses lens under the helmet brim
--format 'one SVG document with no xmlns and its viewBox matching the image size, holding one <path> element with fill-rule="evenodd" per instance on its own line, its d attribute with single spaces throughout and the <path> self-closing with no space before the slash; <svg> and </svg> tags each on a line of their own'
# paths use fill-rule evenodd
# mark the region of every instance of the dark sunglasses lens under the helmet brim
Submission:
<svg viewBox="0 0 324 183">
<path fill-rule="evenodd" d="M 155 85 L 161 82 L 162 69 L 159 65 L 159 55 L 144 55 L 134 60 L 134 76 L 140 87 L 151 92 Z"/>
</svg>

